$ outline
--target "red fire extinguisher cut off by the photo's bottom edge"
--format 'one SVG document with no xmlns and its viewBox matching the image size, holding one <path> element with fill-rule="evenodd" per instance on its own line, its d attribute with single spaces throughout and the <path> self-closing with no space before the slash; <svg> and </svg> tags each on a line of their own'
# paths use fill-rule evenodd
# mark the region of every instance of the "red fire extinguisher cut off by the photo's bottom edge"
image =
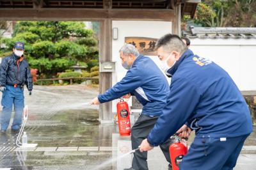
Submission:
<svg viewBox="0 0 256 170">
<path fill-rule="evenodd" d="M 180 143 L 179 136 L 175 135 L 175 142 L 169 147 L 170 158 L 172 162 L 172 169 L 179 170 L 179 164 L 182 161 L 184 155 L 188 152 L 188 146 L 186 143 Z"/>
</svg>

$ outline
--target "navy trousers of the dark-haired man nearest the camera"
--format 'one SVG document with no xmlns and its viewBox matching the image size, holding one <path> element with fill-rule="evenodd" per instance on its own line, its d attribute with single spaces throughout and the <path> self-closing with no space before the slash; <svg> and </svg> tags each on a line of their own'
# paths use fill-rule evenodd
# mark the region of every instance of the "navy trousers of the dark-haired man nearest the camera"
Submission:
<svg viewBox="0 0 256 170">
<path fill-rule="evenodd" d="M 180 170 L 229 170 L 236 161 L 248 135 L 214 138 L 195 137 L 188 154 L 180 163 Z"/>
</svg>

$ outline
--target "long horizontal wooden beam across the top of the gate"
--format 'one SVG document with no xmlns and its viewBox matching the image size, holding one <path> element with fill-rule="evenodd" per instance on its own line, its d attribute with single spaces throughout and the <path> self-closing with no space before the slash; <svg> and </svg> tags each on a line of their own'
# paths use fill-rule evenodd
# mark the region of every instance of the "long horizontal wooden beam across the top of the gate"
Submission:
<svg viewBox="0 0 256 170">
<path fill-rule="evenodd" d="M 170 21 L 173 10 L 81 9 L 81 8 L 1 8 L 0 20 L 163 20 Z"/>
</svg>

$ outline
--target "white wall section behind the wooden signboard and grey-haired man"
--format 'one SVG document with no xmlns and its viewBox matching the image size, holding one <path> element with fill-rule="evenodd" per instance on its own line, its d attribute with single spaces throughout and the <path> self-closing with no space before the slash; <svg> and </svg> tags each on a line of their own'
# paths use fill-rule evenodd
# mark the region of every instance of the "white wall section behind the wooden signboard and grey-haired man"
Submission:
<svg viewBox="0 0 256 170">
<path fill-rule="evenodd" d="M 160 38 L 172 33 L 172 22 L 143 21 L 143 20 L 113 20 L 112 27 L 118 28 L 118 40 L 112 40 L 112 61 L 116 61 L 116 72 L 112 75 L 112 84 L 120 81 L 127 70 L 122 67 L 119 49 L 125 44 L 125 37 L 140 36 L 148 38 Z M 150 56 L 157 62 L 157 56 Z M 129 101 L 131 105 L 131 101 Z M 112 102 L 113 112 L 116 112 L 116 100 Z"/>
</svg>

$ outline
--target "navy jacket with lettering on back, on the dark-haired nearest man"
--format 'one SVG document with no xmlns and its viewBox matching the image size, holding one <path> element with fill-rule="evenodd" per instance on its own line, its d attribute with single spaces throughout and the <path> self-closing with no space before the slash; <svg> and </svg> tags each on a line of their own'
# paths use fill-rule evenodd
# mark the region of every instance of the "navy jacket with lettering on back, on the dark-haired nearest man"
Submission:
<svg viewBox="0 0 256 170">
<path fill-rule="evenodd" d="M 157 146 L 192 121 L 199 128 L 198 137 L 237 137 L 252 132 L 248 106 L 220 66 L 186 50 L 168 73 L 173 75 L 170 95 L 148 143 Z"/>
</svg>

